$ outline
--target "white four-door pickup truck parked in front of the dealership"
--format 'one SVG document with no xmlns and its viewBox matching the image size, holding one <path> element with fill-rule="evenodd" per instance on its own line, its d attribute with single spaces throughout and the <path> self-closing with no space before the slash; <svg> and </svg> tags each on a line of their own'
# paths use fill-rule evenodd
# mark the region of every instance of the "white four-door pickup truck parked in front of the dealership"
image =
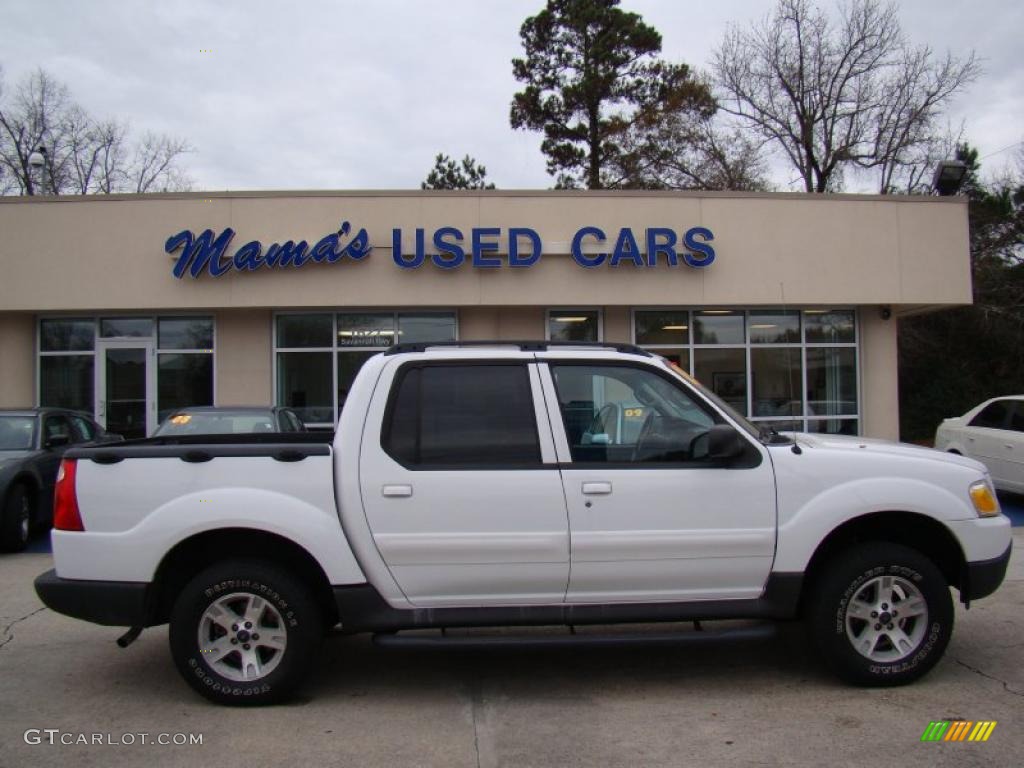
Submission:
<svg viewBox="0 0 1024 768">
<path fill-rule="evenodd" d="M 185 680 L 225 703 L 293 691 L 335 627 L 800 617 L 843 679 L 892 685 L 941 657 L 950 588 L 985 597 L 1010 559 L 981 464 L 759 432 L 625 345 L 398 345 L 316 440 L 69 451 L 40 598 L 123 645 L 169 623 Z"/>
</svg>

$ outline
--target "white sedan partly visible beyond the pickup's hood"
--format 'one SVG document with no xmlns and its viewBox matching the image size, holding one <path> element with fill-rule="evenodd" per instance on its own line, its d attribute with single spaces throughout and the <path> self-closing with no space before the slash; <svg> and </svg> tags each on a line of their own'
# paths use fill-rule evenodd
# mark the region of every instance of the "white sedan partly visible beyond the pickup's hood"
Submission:
<svg viewBox="0 0 1024 768">
<path fill-rule="evenodd" d="M 1024 394 L 993 397 L 946 419 L 935 432 L 935 447 L 977 459 L 995 487 L 1024 494 Z"/>
</svg>

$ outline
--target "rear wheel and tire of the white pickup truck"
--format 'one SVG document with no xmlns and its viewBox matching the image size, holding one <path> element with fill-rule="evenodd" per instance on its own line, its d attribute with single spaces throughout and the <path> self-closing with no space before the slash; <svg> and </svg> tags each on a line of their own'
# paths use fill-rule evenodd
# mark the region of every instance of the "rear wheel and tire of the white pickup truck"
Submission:
<svg viewBox="0 0 1024 768">
<path fill-rule="evenodd" d="M 171 655 L 185 681 L 211 701 L 274 703 L 304 680 L 322 624 L 298 579 L 264 561 L 229 560 L 181 591 L 171 611 Z"/>
</svg>

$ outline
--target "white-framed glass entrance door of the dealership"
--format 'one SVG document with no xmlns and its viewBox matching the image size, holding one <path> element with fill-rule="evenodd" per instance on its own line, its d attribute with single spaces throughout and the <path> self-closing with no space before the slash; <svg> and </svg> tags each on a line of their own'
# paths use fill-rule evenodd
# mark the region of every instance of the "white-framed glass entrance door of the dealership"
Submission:
<svg viewBox="0 0 1024 768">
<path fill-rule="evenodd" d="M 156 355 L 152 341 L 96 342 L 96 419 L 126 440 L 157 428 Z"/>
</svg>

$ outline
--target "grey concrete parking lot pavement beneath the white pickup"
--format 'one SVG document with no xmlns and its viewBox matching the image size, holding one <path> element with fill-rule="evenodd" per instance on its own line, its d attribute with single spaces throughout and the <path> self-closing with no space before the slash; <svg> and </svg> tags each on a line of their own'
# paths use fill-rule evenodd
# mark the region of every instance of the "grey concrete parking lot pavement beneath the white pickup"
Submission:
<svg viewBox="0 0 1024 768">
<path fill-rule="evenodd" d="M 118 630 L 42 608 L 31 583 L 50 563 L 45 552 L 0 556 L 4 767 L 1019 766 L 1024 755 L 1020 555 L 993 598 L 957 608 L 942 664 L 904 688 L 837 683 L 788 630 L 718 647 L 472 653 L 332 637 L 303 698 L 262 710 L 195 695 L 166 628 L 121 650 Z M 998 725 L 986 743 L 921 742 L 930 721 L 956 719 Z M 41 743 L 26 743 L 27 729 Z M 50 744 L 44 729 L 135 743 Z M 203 743 L 142 744 L 140 733 Z"/>
</svg>

